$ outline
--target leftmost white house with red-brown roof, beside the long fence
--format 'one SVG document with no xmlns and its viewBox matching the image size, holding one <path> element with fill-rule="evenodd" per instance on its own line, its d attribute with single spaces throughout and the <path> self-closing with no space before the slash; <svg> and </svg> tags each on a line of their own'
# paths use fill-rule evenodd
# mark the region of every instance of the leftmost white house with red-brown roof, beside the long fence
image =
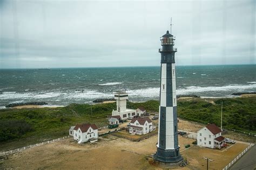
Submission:
<svg viewBox="0 0 256 170">
<path fill-rule="evenodd" d="M 74 140 L 78 141 L 78 144 L 85 141 L 98 139 L 98 128 L 95 124 L 77 124 L 73 128 Z"/>
</svg>

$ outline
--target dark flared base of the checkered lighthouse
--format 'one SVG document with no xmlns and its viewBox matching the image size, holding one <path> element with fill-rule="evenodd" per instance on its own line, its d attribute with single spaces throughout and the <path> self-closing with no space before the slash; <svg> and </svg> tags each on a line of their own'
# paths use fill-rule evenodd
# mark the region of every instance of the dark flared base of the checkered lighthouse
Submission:
<svg viewBox="0 0 256 170">
<path fill-rule="evenodd" d="M 157 148 L 157 152 L 153 155 L 153 159 L 159 164 L 166 164 L 170 166 L 177 166 L 183 160 L 179 153 L 179 147 L 174 150 L 165 150 L 163 148 Z"/>
</svg>

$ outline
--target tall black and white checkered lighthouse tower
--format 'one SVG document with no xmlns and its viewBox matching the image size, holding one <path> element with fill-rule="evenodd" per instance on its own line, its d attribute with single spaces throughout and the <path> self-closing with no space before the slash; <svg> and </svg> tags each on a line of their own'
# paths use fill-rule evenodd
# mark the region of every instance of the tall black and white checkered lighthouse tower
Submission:
<svg viewBox="0 0 256 170">
<path fill-rule="evenodd" d="M 161 82 L 157 152 L 153 158 L 164 163 L 177 163 L 183 158 L 179 153 L 176 70 L 174 37 L 169 31 L 160 38 Z"/>
</svg>

